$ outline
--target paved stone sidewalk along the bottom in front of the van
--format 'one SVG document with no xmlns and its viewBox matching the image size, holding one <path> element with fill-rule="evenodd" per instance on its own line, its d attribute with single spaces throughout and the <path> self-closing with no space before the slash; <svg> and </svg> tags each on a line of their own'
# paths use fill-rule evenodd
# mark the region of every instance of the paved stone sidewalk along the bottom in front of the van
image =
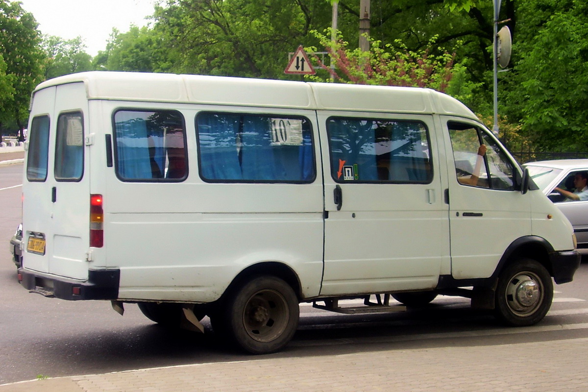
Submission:
<svg viewBox="0 0 588 392">
<path fill-rule="evenodd" d="M 0 392 L 587 391 L 588 338 L 370 351 L 48 378 Z"/>
</svg>

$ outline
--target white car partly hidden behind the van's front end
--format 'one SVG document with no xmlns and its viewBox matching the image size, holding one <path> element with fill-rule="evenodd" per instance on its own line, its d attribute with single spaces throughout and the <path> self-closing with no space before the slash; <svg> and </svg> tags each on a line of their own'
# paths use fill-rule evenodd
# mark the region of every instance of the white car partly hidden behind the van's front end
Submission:
<svg viewBox="0 0 588 392">
<path fill-rule="evenodd" d="M 588 251 L 588 200 L 566 200 L 555 187 L 574 190 L 574 176 L 588 172 L 588 159 L 542 160 L 525 163 L 533 181 L 555 203 L 574 227 L 579 248 Z M 584 252 L 583 252 L 584 253 Z"/>
</svg>

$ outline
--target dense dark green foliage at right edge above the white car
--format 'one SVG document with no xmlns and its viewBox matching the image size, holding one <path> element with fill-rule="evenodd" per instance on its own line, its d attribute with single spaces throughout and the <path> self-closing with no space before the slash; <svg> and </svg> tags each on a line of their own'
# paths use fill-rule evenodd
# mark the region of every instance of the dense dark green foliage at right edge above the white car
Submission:
<svg viewBox="0 0 588 392">
<path fill-rule="evenodd" d="M 588 149 L 588 5 L 526 0 L 526 41 L 509 85 L 509 112 L 540 149 Z M 536 11 L 536 12 L 534 12 Z"/>
</svg>

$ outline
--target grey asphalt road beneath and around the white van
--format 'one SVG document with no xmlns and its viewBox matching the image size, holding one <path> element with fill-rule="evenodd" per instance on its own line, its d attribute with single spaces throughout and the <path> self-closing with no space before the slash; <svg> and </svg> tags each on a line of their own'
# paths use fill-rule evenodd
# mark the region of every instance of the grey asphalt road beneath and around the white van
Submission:
<svg viewBox="0 0 588 392">
<path fill-rule="evenodd" d="M 168 331 L 146 319 L 135 305 L 126 305 L 121 317 L 106 301 L 48 299 L 22 289 L 8 248 L 21 219 L 21 177 L 22 164 L 0 166 L 0 384 L 250 358 L 219 341 L 206 318 L 205 334 Z M 588 263 L 583 263 L 574 282 L 555 286 L 547 317 L 525 328 L 502 327 L 456 297 L 439 297 L 423 310 L 371 316 L 339 315 L 303 304 L 293 341 L 266 357 L 588 337 L 587 283 Z"/>
</svg>

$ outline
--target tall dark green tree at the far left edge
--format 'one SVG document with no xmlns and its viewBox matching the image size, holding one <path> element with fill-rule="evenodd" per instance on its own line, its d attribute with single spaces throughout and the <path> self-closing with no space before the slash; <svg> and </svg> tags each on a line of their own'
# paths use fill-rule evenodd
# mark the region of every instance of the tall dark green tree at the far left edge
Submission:
<svg viewBox="0 0 588 392">
<path fill-rule="evenodd" d="M 42 79 L 44 54 L 37 26 L 34 16 L 24 11 L 19 2 L 0 0 L 0 53 L 14 88 L 12 99 L 2 102 L 0 118 L 14 118 L 21 139 L 31 92 Z"/>
</svg>

